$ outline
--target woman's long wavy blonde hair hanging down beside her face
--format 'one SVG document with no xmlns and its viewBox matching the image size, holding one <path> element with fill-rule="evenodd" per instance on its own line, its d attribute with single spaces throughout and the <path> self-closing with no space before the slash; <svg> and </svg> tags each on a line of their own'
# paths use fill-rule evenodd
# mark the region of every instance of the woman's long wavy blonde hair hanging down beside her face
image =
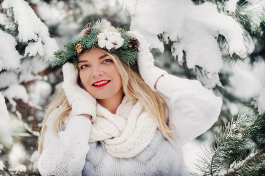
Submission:
<svg viewBox="0 0 265 176">
<path fill-rule="evenodd" d="M 85 35 L 88 28 L 83 29 L 78 35 Z M 126 96 L 132 99 L 137 99 L 141 101 L 147 113 L 155 119 L 158 125 L 158 129 L 161 133 L 173 143 L 175 139 L 173 131 L 169 129 L 166 124 L 165 109 L 163 105 L 166 106 L 169 113 L 168 105 L 166 104 L 163 96 L 159 92 L 153 92 L 150 87 L 142 79 L 138 72 L 132 70 L 123 60 L 120 60 L 117 56 L 110 54 L 109 52 L 102 50 L 104 53 L 109 55 L 121 75 L 122 78 L 122 89 Z M 55 108 L 59 107 L 59 111 L 54 117 L 53 128 L 56 134 L 62 131 L 62 120 L 66 118 L 71 112 L 72 108 L 68 104 L 67 98 L 64 95 L 63 90 L 56 92 L 50 99 L 50 104 L 47 106 L 46 113 L 43 119 L 43 125 L 41 129 L 41 137 L 38 145 L 38 150 L 42 152 L 44 135 L 46 131 L 47 119 Z M 170 114 L 169 118 L 170 118 Z"/>
</svg>

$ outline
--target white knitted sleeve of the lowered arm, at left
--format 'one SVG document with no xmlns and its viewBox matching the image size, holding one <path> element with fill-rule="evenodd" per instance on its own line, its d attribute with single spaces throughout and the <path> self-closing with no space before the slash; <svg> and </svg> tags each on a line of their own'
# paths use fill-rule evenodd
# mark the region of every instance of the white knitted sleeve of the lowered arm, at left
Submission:
<svg viewBox="0 0 265 176">
<path fill-rule="evenodd" d="M 38 161 L 41 175 L 81 175 L 89 150 L 88 140 L 91 121 L 82 116 L 72 117 L 64 131 L 56 135 L 53 130 L 54 116 L 58 108 L 48 117 L 43 151 Z"/>
</svg>

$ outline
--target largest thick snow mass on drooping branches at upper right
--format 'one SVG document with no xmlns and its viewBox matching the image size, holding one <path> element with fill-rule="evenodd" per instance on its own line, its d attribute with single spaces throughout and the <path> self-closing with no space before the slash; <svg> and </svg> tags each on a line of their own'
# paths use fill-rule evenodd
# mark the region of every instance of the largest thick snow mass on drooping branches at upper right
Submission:
<svg viewBox="0 0 265 176">
<path fill-rule="evenodd" d="M 223 66 L 218 34 L 228 42 L 225 54 L 236 53 L 244 58 L 247 52 L 253 50 L 252 39 L 248 39 L 249 44 L 244 41 L 241 25 L 232 17 L 219 13 L 215 4 L 205 2 L 195 6 L 186 0 L 166 0 L 163 3 L 158 0 L 120 0 L 119 3 L 132 15 L 130 30 L 141 32 L 150 43 L 150 48 L 164 51 L 163 42 L 158 39 L 158 35 L 163 34 L 165 42 L 168 39 L 175 41 L 171 48 L 172 55 L 178 56 L 180 63 L 185 51 L 188 68 L 198 65 L 205 72 L 210 72 L 208 75 L 213 77 L 209 81 L 206 81 L 205 75 L 198 76 L 207 87 L 221 85 L 219 78 L 214 76 Z M 233 11 L 235 3 L 235 0 L 231 0 L 227 7 Z"/>
</svg>

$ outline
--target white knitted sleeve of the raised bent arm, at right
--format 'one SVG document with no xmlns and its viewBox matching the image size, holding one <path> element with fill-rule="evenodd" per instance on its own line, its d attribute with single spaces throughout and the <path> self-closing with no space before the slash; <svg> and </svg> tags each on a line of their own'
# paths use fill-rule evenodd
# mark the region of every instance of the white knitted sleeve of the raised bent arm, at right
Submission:
<svg viewBox="0 0 265 176">
<path fill-rule="evenodd" d="M 156 89 L 168 100 L 169 126 L 182 145 L 206 132 L 220 115 L 222 99 L 198 80 L 166 74 Z"/>
</svg>

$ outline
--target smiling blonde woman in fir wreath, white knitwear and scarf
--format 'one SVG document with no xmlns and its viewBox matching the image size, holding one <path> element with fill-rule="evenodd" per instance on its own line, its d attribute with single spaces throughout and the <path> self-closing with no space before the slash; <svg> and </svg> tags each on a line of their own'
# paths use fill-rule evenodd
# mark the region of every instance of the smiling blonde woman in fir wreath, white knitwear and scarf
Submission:
<svg viewBox="0 0 265 176">
<path fill-rule="evenodd" d="M 63 92 L 44 116 L 42 175 L 188 175 L 181 145 L 216 122 L 221 98 L 156 67 L 139 32 L 101 22 L 55 57 Z"/>
</svg>

